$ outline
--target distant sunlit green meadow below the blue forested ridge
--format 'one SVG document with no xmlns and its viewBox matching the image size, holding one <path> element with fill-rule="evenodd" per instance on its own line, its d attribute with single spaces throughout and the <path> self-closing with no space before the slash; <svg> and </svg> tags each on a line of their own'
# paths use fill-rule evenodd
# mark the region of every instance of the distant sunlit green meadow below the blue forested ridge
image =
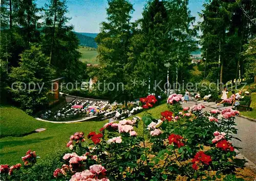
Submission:
<svg viewBox="0 0 256 181">
<path fill-rule="evenodd" d="M 86 46 L 80 46 L 79 51 L 82 54 L 80 61 L 81 62 L 87 62 L 91 64 L 99 64 L 97 61 L 97 51 L 95 48 L 86 47 Z"/>
</svg>

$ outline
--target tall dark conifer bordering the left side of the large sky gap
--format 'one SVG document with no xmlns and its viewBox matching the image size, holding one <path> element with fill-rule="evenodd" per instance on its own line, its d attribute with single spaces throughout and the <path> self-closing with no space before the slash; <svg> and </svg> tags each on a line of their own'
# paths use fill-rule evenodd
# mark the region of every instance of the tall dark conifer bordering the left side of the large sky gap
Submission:
<svg viewBox="0 0 256 181">
<path fill-rule="evenodd" d="M 49 57 L 49 64 L 54 67 L 57 76 L 65 76 L 70 81 L 77 80 L 79 74 L 84 74 L 84 70 L 81 70 L 84 66 L 79 62 L 79 40 L 73 27 L 67 25 L 71 19 L 66 16 L 67 13 L 66 1 L 54 0 L 46 4 L 41 35 L 42 49 Z"/>
</svg>

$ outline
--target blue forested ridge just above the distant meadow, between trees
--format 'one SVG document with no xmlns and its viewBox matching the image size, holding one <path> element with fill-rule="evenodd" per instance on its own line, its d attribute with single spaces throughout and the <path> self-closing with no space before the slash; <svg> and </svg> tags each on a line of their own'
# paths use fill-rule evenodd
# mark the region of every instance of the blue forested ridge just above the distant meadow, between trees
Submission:
<svg viewBox="0 0 256 181">
<path fill-rule="evenodd" d="M 92 48 L 97 48 L 97 43 L 95 41 L 95 37 L 98 35 L 97 33 L 79 33 L 74 32 L 76 37 L 79 40 L 79 44 L 81 46 L 89 46 Z"/>
</svg>

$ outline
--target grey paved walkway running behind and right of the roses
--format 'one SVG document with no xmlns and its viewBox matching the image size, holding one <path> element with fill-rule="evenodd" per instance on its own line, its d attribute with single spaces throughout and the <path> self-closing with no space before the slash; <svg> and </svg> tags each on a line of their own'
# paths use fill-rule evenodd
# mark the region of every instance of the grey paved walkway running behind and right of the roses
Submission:
<svg viewBox="0 0 256 181">
<path fill-rule="evenodd" d="M 210 111 L 213 109 L 213 108 L 207 107 L 207 105 L 209 105 L 210 102 L 197 103 L 197 102 L 194 102 L 193 100 L 188 101 L 187 104 L 183 103 L 182 106 L 192 107 L 195 104 L 204 104 L 206 106 L 206 108 L 204 109 L 205 111 Z M 212 106 L 214 107 L 215 104 Z M 221 109 L 221 107 L 218 109 Z M 243 148 L 239 150 L 240 153 L 243 154 L 243 156 L 246 157 L 248 160 L 256 164 L 256 122 L 237 116 L 236 123 L 237 123 L 236 127 L 238 128 L 237 137 L 241 139 L 242 142 L 238 140 L 234 140 L 232 141 L 232 143 L 238 147 Z"/>
</svg>

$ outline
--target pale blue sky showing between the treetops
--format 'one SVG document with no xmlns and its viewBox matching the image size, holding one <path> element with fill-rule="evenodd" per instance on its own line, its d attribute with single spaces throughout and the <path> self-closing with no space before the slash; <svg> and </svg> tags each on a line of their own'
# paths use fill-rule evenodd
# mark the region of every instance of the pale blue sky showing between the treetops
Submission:
<svg viewBox="0 0 256 181">
<path fill-rule="evenodd" d="M 190 0 L 189 9 L 196 21 L 199 21 L 197 12 L 201 12 L 204 0 Z M 37 0 L 38 7 L 42 7 L 47 0 Z M 142 17 L 141 12 L 146 0 L 130 0 L 134 6 L 132 20 Z M 72 17 L 70 24 L 74 26 L 76 32 L 99 33 L 100 23 L 106 18 L 106 0 L 67 0 L 69 10 L 68 17 Z"/>
</svg>

